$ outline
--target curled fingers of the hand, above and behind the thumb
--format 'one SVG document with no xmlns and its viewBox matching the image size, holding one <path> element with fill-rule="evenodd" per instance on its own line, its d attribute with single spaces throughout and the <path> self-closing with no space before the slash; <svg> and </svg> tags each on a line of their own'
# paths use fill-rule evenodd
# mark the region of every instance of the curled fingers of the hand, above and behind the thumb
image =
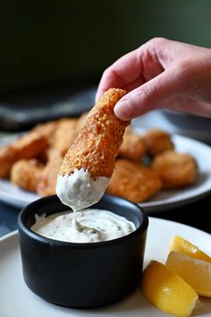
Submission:
<svg viewBox="0 0 211 317">
<path fill-rule="evenodd" d="M 99 82 L 96 101 L 111 87 L 131 91 L 164 72 L 157 54 L 161 47 L 165 47 L 166 41 L 151 39 L 107 68 Z"/>
</svg>

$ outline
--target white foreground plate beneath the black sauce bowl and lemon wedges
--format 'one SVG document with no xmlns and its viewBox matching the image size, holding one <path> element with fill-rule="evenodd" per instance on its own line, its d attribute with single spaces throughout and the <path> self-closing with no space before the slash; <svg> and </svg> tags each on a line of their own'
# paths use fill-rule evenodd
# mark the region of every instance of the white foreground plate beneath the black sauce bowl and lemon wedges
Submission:
<svg viewBox="0 0 211 317">
<path fill-rule="evenodd" d="M 176 222 L 149 218 L 145 265 L 152 259 L 165 262 L 169 243 L 172 237 L 178 234 L 189 239 L 193 244 L 200 245 L 206 253 L 210 253 L 211 236 L 207 233 Z M 197 316 L 208 317 L 211 315 L 211 299 L 204 298 L 202 301 L 205 305 Z M 0 239 L 0 315 L 1 317 L 170 316 L 149 304 L 139 289 L 122 302 L 95 310 L 70 309 L 45 302 L 34 295 L 22 279 L 17 232 Z"/>
</svg>

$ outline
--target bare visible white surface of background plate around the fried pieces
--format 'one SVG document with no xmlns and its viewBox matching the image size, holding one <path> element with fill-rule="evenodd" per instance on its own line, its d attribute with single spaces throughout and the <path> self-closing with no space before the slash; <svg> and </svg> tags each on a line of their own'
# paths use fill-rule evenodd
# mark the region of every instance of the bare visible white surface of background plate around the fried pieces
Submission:
<svg viewBox="0 0 211 317">
<path fill-rule="evenodd" d="M 151 200 L 140 203 L 146 211 L 156 212 L 180 207 L 189 202 L 197 201 L 199 198 L 211 193 L 211 147 L 199 141 L 192 140 L 180 135 L 172 137 L 175 149 L 178 152 L 187 152 L 192 155 L 198 163 L 198 179 L 196 184 L 182 190 L 161 191 Z M 3 142 L 11 141 L 5 137 Z M 35 193 L 22 191 L 7 180 L 0 179 L 0 200 L 18 207 L 24 207 L 31 201 L 38 199 Z"/>
</svg>

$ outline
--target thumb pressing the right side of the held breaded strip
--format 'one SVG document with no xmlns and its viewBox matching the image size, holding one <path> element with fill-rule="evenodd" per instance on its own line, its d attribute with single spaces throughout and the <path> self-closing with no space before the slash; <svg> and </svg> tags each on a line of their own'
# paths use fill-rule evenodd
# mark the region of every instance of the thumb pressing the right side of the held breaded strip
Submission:
<svg viewBox="0 0 211 317">
<path fill-rule="evenodd" d="M 183 83 L 185 82 L 182 77 Z M 156 109 L 165 99 L 184 93 L 181 73 L 174 67 L 131 90 L 114 107 L 114 114 L 122 120 L 131 120 Z"/>
</svg>

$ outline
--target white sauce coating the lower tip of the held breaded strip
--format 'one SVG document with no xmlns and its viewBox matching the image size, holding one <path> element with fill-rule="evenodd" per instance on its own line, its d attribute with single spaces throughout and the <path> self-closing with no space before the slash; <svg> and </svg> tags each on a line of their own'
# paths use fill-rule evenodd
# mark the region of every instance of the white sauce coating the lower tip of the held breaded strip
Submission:
<svg viewBox="0 0 211 317">
<path fill-rule="evenodd" d="M 107 177 L 93 179 L 89 170 L 75 168 L 71 175 L 57 177 L 55 193 L 72 210 L 83 210 L 101 199 L 108 182 Z"/>
</svg>

